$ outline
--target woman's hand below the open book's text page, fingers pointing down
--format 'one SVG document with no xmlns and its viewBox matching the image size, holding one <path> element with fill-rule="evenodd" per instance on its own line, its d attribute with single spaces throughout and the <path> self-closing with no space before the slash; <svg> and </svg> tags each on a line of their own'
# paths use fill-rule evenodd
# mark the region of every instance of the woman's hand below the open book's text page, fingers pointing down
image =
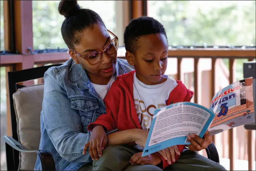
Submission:
<svg viewBox="0 0 256 171">
<path fill-rule="evenodd" d="M 175 162 L 175 153 L 180 155 L 180 151 L 178 150 L 177 145 L 168 147 L 166 149 L 158 151 L 165 160 L 167 160 L 168 164 L 171 164 L 171 160 Z"/>
</svg>

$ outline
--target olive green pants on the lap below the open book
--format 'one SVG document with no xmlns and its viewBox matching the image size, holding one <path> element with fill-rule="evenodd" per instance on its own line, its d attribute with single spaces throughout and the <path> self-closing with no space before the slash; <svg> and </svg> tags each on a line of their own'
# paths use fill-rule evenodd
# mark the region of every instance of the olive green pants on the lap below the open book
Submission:
<svg viewBox="0 0 256 171">
<path fill-rule="evenodd" d="M 102 157 L 98 161 L 81 167 L 79 170 L 162 170 L 154 165 L 132 165 L 129 160 L 133 154 L 140 150 L 129 145 L 110 145 L 102 151 Z M 167 170 L 196 170 L 196 171 L 220 171 L 226 170 L 222 165 L 216 163 L 194 151 L 184 151 L 180 158 Z"/>
</svg>

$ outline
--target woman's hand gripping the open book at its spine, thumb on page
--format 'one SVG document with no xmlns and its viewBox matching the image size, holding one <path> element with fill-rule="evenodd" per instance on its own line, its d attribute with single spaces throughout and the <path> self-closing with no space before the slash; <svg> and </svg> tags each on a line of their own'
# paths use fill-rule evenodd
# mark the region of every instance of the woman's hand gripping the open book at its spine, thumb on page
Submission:
<svg viewBox="0 0 256 171">
<path fill-rule="evenodd" d="M 188 149 L 191 151 L 201 151 L 212 143 L 212 138 L 208 130 L 203 138 L 198 137 L 196 134 L 191 134 L 187 136 L 187 139 L 191 143 L 191 145 L 188 145 Z"/>
</svg>

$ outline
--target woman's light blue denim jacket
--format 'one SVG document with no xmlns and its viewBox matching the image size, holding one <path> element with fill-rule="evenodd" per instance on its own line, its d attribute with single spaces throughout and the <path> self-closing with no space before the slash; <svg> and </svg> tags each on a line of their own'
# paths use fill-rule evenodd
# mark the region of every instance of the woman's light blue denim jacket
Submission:
<svg viewBox="0 0 256 171">
<path fill-rule="evenodd" d="M 92 162 L 90 154 L 82 154 L 91 132 L 87 126 L 106 112 L 103 101 L 94 90 L 85 70 L 70 58 L 63 65 L 49 68 L 44 74 L 41 112 L 40 150 L 52 153 L 56 170 L 78 170 Z M 117 59 L 116 76 L 134 68 L 126 60 Z M 42 170 L 37 157 L 34 170 Z"/>
</svg>

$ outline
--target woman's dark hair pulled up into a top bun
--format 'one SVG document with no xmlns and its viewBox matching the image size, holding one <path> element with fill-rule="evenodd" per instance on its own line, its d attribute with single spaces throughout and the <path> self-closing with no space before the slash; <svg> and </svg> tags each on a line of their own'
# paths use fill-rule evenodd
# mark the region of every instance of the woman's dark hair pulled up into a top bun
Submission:
<svg viewBox="0 0 256 171">
<path fill-rule="evenodd" d="M 81 9 L 76 0 L 62 0 L 58 7 L 59 13 L 65 17 L 61 32 L 66 45 L 74 49 L 81 41 L 81 32 L 93 28 L 94 24 L 104 23 L 101 17 L 89 9 Z"/>
</svg>

